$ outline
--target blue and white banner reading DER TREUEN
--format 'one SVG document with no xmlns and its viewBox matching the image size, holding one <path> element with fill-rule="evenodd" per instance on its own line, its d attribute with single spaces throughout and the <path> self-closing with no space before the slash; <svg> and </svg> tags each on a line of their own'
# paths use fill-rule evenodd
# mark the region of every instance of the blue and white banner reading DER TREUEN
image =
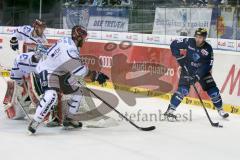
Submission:
<svg viewBox="0 0 240 160">
<path fill-rule="evenodd" d="M 128 9 L 106 7 L 78 7 L 65 9 L 63 27 L 82 25 L 92 31 L 128 31 Z"/>
</svg>

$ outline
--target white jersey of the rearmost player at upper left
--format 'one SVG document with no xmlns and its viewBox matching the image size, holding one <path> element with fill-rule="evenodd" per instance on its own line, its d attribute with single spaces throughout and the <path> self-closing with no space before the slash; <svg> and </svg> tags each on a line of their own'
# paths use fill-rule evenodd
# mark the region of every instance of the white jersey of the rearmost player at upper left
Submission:
<svg viewBox="0 0 240 160">
<path fill-rule="evenodd" d="M 35 44 L 46 44 L 47 39 L 43 34 L 41 37 L 32 35 L 33 27 L 31 26 L 20 26 L 14 30 L 13 37 L 16 37 L 19 41 L 24 41 L 25 43 L 35 43 Z"/>
</svg>

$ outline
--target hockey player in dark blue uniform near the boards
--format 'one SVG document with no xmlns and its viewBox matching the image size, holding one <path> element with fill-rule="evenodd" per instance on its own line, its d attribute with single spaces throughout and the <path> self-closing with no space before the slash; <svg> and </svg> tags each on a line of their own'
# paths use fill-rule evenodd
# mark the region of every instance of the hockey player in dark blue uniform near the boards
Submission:
<svg viewBox="0 0 240 160">
<path fill-rule="evenodd" d="M 175 40 L 170 48 L 178 64 L 182 67 L 178 89 L 173 94 L 165 116 L 175 117 L 174 111 L 188 95 L 190 85 L 199 82 L 202 89 L 207 92 L 214 106 L 221 117 L 229 116 L 223 110 L 222 98 L 219 89 L 212 77 L 211 69 L 213 65 L 213 49 L 206 42 L 207 30 L 198 28 L 195 32 L 195 38 L 184 38 Z M 181 54 L 181 50 L 186 50 L 186 55 Z M 184 68 L 187 68 L 188 71 Z"/>
</svg>

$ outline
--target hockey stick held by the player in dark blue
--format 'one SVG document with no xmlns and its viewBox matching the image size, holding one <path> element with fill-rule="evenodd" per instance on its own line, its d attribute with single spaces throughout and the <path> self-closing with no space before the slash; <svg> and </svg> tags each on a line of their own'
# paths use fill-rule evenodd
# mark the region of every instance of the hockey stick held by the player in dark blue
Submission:
<svg viewBox="0 0 240 160">
<path fill-rule="evenodd" d="M 187 69 L 186 66 L 184 66 L 184 69 L 185 69 L 185 71 L 187 72 L 188 76 L 190 76 L 190 74 L 189 74 L 188 69 Z M 192 83 L 191 85 L 193 86 L 193 88 L 194 88 L 194 90 L 195 90 L 195 92 L 196 92 L 196 94 L 197 94 L 197 96 L 198 96 L 198 99 L 200 100 L 200 103 L 201 103 L 201 105 L 202 105 L 202 107 L 203 107 L 203 109 L 204 109 L 204 111 L 205 111 L 205 113 L 206 113 L 206 115 L 207 115 L 207 118 L 208 118 L 209 122 L 211 123 L 211 125 L 212 125 L 213 127 L 222 128 L 223 126 L 220 125 L 219 122 L 213 122 L 213 121 L 212 121 L 212 119 L 211 119 L 211 117 L 209 116 L 209 113 L 208 113 L 208 111 L 207 111 L 207 109 L 206 109 L 206 107 L 205 107 L 205 105 L 204 105 L 204 103 L 203 103 L 203 100 L 202 100 L 202 98 L 201 98 L 201 96 L 200 96 L 200 94 L 199 94 L 199 92 L 198 92 L 198 89 L 197 89 L 195 83 Z"/>
</svg>

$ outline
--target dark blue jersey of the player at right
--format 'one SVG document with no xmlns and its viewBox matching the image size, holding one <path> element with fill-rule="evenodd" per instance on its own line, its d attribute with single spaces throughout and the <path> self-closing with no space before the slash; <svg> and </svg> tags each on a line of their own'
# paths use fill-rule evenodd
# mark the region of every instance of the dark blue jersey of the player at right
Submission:
<svg viewBox="0 0 240 160">
<path fill-rule="evenodd" d="M 195 38 L 184 38 L 173 41 L 170 48 L 177 60 L 184 59 L 190 74 L 196 74 L 201 78 L 212 69 L 213 49 L 209 43 L 205 42 L 201 47 L 197 47 Z M 182 49 L 186 50 L 186 55 L 180 53 Z"/>
</svg>

